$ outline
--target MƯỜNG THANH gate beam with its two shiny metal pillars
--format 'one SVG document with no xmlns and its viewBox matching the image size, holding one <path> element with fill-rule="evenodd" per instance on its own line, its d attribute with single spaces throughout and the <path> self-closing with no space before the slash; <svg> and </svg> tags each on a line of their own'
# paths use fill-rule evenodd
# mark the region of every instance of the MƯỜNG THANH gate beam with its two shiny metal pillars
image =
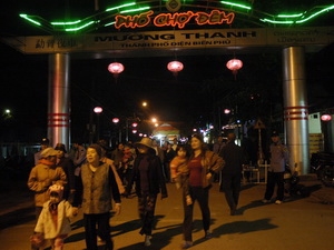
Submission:
<svg viewBox="0 0 334 250">
<path fill-rule="evenodd" d="M 70 57 L 90 58 L 164 57 L 178 54 L 230 54 L 277 51 L 283 58 L 284 123 L 291 166 L 308 171 L 308 103 L 305 84 L 305 53 L 316 52 L 334 41 L 334 27 L 208 29 L 117 32 L 76 36 L 2 38 L 2 42 L 26 54 L 49 54 L 48 137 L 51 144 L 70 144 Z"/>
</svg>

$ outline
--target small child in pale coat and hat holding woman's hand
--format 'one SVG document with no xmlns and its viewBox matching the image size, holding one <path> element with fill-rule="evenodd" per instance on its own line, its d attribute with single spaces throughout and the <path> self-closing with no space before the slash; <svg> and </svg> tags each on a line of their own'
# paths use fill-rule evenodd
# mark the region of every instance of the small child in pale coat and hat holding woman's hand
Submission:
<svg viewBox="0 0 334 250">
<path fill-rule="evenodd" d="M 50 240 L 52 250 L 62 250 L 63 240 L 71 231 L 70 219 L 78 214 L 78 210 L 63 199 L 63 187 L 52 184 L 48 192 L 50 200 L 43 203 L 30 241 L 37 249 Z"/>
</svg>

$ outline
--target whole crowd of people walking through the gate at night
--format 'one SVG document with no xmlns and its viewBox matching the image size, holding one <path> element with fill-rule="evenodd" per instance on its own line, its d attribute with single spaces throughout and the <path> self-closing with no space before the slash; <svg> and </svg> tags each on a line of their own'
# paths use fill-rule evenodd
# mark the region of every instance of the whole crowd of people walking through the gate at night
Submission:
<svg viewBox="0 0 334 250">
<path fill-rule="evenodd" d="M 269 170 L 263 202 L 271 201 L 274 186 L 278 186 L 276 204 L 283 202 L 282 166 L 288 152 L 277 133 L 271 146 L 273 168 Z M 69 220 L 84 214 L 85 241 L 88 250 L 112 250 L 110 212 L 121 211 L 121 197 L 137 196 L 141 221 L 139 233 L 144 244 L 151 244 L 157 197 L 168 198 L 166 183 L 171 182 L 181 192 L 184 221 L 181 249 L 193 246 L 194 206 L 202 212 L 204 238 L 210 239 L 209 190 L 219 181 L 230 216 L 237 212 L 243 164 L 246 158 L 235 143 L 235 133 L 227 140 L 218 137 L 209 149 L 202 134 L 193 134 L 187 143 L 166 141 L 161 147 L 155 139 L 121 143 L 111 150 L 106 140 L 85 147 L 73 143 L 68 152 L 63 143 L 52 148 L 42 139 L 41 150 L 35 157 L 36 166 L 28 178 L 28 188 L 35 192 L 36 228 L 31 236 L 31 249 L 41 249 L 47 240 L 51 248 L 63 249 L 63 240 L 70 232 Z M 115 203 L 114 208 L 111 208 Z"/>
</svg>

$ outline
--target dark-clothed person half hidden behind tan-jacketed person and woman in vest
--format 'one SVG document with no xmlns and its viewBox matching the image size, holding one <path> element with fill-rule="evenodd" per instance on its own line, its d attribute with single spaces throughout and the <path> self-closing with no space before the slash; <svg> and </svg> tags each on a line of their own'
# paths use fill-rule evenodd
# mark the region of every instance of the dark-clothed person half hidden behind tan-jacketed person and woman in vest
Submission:
<svg viewBox="0 0 334 250">
<path fill-rule="evenodd" d="M 55 150 L 58 150 L 56 167 L 61 167 L 67 177 L 67 183 L 63 187 L 63 199 L 72 203 L 76 191 L 75 164 L 73 161 L 66 157 L 66 148 L 63 143 L 57 143 Z"/>
</svg>

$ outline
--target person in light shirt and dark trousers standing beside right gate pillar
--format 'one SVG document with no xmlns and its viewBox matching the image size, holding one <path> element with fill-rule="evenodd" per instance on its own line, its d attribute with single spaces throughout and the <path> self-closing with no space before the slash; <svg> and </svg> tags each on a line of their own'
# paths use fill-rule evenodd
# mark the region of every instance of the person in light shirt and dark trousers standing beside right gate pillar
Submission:
<svg viewBox="0 0 334 250">
<path fill-rule="evenodd" d="M 277 184 L 277 197 L 275 203 L 281 204 L 284 199 L 284 171 L 285 164 L 288 163 L 288 150 L 286 146 L 281 142 L 279 136 L 276 131 L 273 131 L 272 133 L 269 153 L 271 167 L 268 169 L 266 191 L 262 202 L 268 203 L 272 201 L 274 189 Z"/>
</svg>

